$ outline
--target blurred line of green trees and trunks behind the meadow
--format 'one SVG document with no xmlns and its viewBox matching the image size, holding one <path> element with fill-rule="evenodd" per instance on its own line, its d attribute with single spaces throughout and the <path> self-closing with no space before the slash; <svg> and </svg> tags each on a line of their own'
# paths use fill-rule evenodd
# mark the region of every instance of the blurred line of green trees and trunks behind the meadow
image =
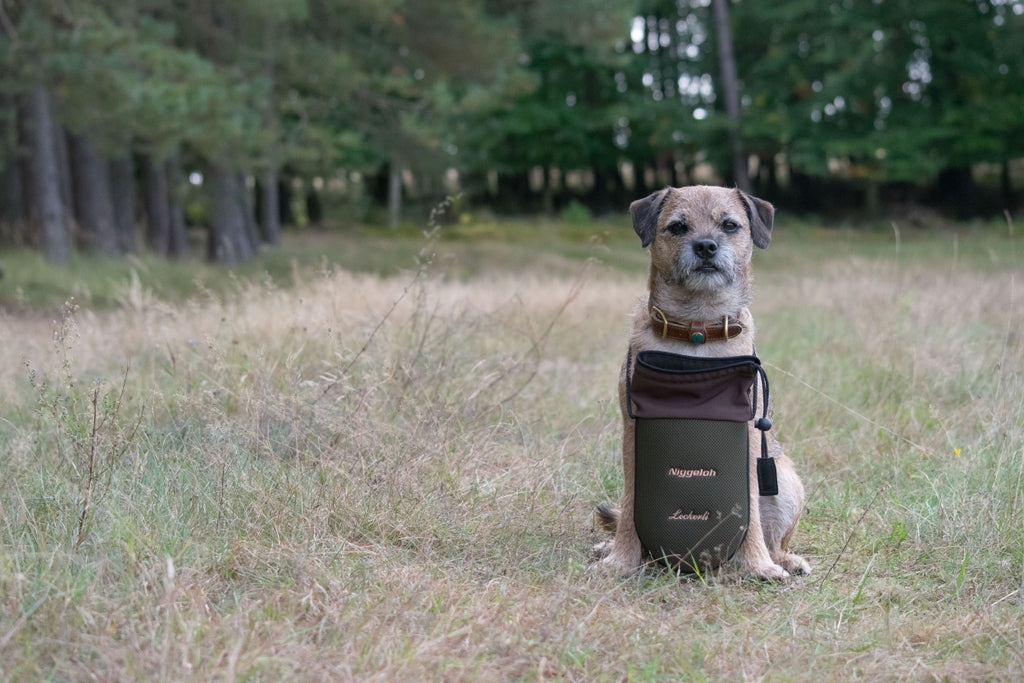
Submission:
<svg viewBox="0 0 1024 683">
<path fill-rule="evenodd" d="M 1018 0 L 3 0 L 0 245 L 238 262 L 444 197 L 586 220 L 692 182 L 999 215 L 1022 113 Z"/>
</svg>

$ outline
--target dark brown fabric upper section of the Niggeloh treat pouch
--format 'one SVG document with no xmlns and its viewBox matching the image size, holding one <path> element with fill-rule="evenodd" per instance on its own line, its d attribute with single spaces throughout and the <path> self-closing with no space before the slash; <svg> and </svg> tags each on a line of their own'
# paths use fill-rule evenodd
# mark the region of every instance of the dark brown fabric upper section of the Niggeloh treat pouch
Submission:
<svg viewBox="0 0 1024 683">
<path fill-rule="evenodd" d="M 628 385 L 634 418 L 692 418 L 746 422 L 757 356 L 700 358 L 641 351 Z"/>
</svg>

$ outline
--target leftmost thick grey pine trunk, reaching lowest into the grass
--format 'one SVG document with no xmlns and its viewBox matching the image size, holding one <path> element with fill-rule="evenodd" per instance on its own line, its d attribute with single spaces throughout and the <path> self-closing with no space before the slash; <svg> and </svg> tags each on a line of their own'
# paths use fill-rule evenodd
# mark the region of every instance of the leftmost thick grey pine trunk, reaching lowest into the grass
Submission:
<svg viewBox="0 0 1024 683">
<path fill-rule="evenodd" d="M 39 243 L 49 261 L 67 263 L 71 258 L 71 230 L 67 207 L 60 198 L 60 167 L 56 136 L 60 133 L 43 86 L 29 95 L 26 120 L 31 171 L 30 214 Z"/>
</svg>

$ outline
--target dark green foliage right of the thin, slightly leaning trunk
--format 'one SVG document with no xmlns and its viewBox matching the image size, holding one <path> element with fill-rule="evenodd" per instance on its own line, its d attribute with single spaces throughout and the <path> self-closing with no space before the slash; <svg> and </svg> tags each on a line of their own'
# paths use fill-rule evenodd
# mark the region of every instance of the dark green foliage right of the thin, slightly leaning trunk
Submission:
<svg viewBox="0 0 1024 683">
<path fill-rule="evenodd" d="M 841 161 L 853 177 L 919 182 L 1021 154 L 1024 4 L 743 2 L 736 14 L 755 151 L 813 175 Z"/>
</svg>

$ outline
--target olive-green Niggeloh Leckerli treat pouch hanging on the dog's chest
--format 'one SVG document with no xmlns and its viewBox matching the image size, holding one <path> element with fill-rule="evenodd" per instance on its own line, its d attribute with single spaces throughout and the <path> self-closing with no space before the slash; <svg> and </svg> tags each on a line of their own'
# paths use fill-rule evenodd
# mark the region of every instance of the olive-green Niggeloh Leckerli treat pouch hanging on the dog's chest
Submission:
<svg viewBox="0 0 1024 683">
<path fill-rule="evenodd" d="M 637 355 L 627 378 L 636 421 L 633 512 L 637 536 L 656 560 L 705 571 L 739 549 L 750 521 L 748 424 L 757 410 L 752 389 L 759 374 L 764 381 L 753 355 Z"/>
</svg>

